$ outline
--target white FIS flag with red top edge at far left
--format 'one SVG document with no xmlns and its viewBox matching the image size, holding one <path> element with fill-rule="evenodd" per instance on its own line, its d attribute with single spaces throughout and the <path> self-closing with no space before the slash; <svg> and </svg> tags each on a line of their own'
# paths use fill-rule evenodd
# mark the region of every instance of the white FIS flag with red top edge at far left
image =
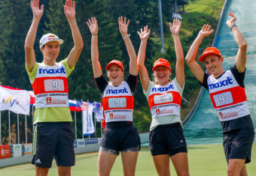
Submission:
<svg viewBox="0 0 256 176">
<path fill-rule="evenodd" d="M 10 110 L 17 114 L 29 115 L 30 95 L 28 91 L 0 86 L 0 111 Z"/>
</svg>

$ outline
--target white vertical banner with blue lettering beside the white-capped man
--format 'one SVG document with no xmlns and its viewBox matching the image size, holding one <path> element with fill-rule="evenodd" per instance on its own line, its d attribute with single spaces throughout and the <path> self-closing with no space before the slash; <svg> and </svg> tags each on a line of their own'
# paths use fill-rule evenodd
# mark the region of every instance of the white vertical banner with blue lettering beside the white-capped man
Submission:
<svg viewBox="0 0 256 176">
<path fill-rule="evenodd" d="M 93 105 L 82 102 L 83 134 L 84 136 L 92 135 L 95 132 L 93 125 Z"/>
</svg>

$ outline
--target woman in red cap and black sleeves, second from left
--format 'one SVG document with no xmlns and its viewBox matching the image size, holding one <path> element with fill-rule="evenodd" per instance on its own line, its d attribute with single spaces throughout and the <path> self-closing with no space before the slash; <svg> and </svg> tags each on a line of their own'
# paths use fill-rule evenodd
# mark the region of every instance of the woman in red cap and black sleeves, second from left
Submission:
<svg viewBox="0 0 256 176">
<path fill-rule="evenodd" d="M 96 85 L 102 94 L 102 106 L 106 121 L 99 148 L 98 175 L 110 175 L 114 161 L 121 152 L 123 175 L 135 175 L 140 150 L 139 133 L 133 127 L 133 94 L 137 84 L 137 56 L 130 36 L 127 34 L 130 20 L 118 18 L 119 30 L 130 56 L 130 75 L 123 81 L 123 64 L 113 60 L 106 67 L 109 82 L 102 76 L 98 51 L 98 24 L 96 18 L 87 22 L 92 33 L 92 63 Z"/>
</svg>

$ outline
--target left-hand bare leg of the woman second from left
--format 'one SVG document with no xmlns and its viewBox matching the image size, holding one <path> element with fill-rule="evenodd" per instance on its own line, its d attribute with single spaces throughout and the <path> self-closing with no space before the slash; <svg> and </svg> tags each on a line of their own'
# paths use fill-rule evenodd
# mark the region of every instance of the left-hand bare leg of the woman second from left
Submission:
<svg viewBox="0 0 256 176">
<path fill-rule="evenodd" d="M 111 169 L 114 165 L 114 161 L 117 158 L 115 154 L 109 154 L 99 151 L 98 157 L 98 176 L 110 175 Z"/>
</svg>

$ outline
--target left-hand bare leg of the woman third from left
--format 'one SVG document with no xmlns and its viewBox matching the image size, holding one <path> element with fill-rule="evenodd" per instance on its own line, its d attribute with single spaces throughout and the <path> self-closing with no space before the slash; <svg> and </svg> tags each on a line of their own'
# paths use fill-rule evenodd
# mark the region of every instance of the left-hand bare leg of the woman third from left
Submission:
<svg viewBox="0 0 256 176">
<path fill-rule="evenodd" d="M 154 166 L 157 169 L 157 174 L 159 176 L 170 176 L 169 154 L 160 154 L 152 157 L 154 160 Z"/>
</svg>

